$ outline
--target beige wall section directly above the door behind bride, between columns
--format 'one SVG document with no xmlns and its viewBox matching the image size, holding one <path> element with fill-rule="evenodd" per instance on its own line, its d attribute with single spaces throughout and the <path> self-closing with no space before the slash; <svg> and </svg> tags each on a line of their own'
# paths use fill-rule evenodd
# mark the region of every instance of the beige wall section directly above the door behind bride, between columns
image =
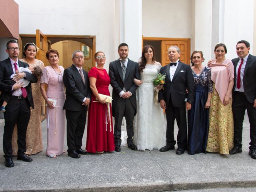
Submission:
<svg viewBox="0 0 256 192">
<path fill-rule="evenodd" d="M 194 0 L 142 0 L 142 35 L 192 38 Z"/>
</svg>

